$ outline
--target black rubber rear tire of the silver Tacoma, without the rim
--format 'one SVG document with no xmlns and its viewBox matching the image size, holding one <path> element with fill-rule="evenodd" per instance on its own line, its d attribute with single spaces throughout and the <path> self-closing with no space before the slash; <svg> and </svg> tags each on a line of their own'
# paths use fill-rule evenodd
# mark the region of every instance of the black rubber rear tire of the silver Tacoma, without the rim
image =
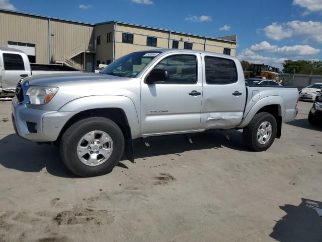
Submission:
<svg viewBox="0 0 322 242">
<path fill-rule="evenodd" d="M 266 144 L 260 144 L 257 140 L 257 131 L 260 125 L 268 121 L 272 125 L 272 135 Z M 249 146 L 251 150 L 254 151 L 264 151 L 267 150 L 274 142 L 277 132 L 277 123 L 275 117 L 268 112 L 260 112 L 255 114 L 251 122 L 243 130 L 244 142 Z"/>
</svg>

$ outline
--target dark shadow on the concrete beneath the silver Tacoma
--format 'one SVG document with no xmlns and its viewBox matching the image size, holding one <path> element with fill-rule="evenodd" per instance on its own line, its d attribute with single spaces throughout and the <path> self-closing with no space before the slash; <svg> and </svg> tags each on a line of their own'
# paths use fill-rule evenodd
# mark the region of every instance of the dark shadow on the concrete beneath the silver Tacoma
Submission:
<svg viewBox="0 0 322 242">
<path fill-rule="evenodd" d="M 147 138 L 145 141 L 149 142 L 150 147 L 146 147 L 140 140 L 134 140 L 134 157 L 145 158 L 178 154 L 189 150 L 220 149 L 222 147 L 251 152 L 243 144 L 241 132 L 226 131 L 225 133 L 214 131 L 213 133 L 189 135 L 193 144 L 189 143 L 184 135 Z M 227 137 L 229 137 L 229 140 Z M 50 145 L 37 145 L 35 142 L 11 134 L 0 140 L 0 147 L 0 164 L 6 168 L 24 172 L 40 172 L 46 168 L 46 171 L 51 175 L 77 177 L 65 167 L 60 159 L 58 149 L 54 149 Z M 127 168 L 125 162 L 127 161 L 123 156 L 118 166 Z"/>
</svg>

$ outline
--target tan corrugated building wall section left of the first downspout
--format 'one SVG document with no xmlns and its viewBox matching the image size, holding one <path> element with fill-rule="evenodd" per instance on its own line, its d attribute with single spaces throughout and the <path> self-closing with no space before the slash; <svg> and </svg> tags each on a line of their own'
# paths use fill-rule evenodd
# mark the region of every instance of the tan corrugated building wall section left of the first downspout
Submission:
<svg viewBox="0 0 322 242">
<path fill-rule="evenodd" d="M 36 45 L 36 62 L 48 64 L 48 19 L 0 11 L 0 46 L 8 41 Z"/>
</svg>

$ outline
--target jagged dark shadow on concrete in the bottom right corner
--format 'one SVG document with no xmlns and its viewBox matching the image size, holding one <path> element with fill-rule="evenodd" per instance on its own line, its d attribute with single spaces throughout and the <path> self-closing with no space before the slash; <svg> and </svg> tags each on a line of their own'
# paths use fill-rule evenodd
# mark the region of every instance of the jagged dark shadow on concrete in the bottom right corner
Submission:
<svg viewBox="0 0 322 242">
<path fill-rule="evenodd" d="M 286 213 L 277 221 L 270 237 L 280 242 L 321 241 L 322 218 L 315 208 L 322 208 L 322 203 L 302 198 L 298 206 L 286 204 L 280 206 Z"/>
</svg>

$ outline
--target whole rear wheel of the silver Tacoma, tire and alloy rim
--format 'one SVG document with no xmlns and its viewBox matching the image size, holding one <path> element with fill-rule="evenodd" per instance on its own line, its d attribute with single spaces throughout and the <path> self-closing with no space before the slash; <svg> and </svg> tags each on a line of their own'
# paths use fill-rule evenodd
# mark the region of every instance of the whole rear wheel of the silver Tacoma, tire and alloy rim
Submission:
<svg viewBox="0 0 322 242">
<path fill-rule="evenodd" d="M 253 117 L 243 130 L 243 139 L 251 150 L 264 151 L 273 144 L 276 132 L 275 117 L 268 112 L 260 112 Z"/>
</svg>

